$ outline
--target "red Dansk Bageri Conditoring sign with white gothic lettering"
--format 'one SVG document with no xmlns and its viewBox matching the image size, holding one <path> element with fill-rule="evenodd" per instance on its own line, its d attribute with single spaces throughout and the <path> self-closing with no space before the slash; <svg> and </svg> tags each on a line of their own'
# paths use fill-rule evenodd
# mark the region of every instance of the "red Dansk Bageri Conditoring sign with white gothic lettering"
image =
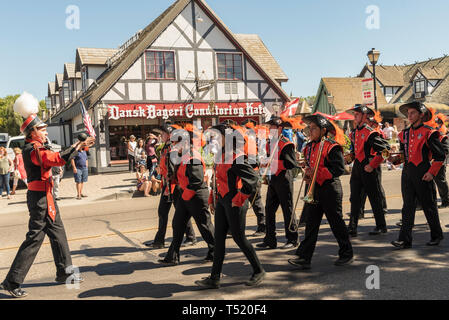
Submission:
<svg viewBox="0 0 449 320">
<path fill-rule="evenodd" d="M 109 119 L 194 118 L 204 116 L 249 117 L 266 113 L 261 102 L 251 103 L 190 103 L 190 104 L 115 104 L 109 105 Z"/>
</svg>

